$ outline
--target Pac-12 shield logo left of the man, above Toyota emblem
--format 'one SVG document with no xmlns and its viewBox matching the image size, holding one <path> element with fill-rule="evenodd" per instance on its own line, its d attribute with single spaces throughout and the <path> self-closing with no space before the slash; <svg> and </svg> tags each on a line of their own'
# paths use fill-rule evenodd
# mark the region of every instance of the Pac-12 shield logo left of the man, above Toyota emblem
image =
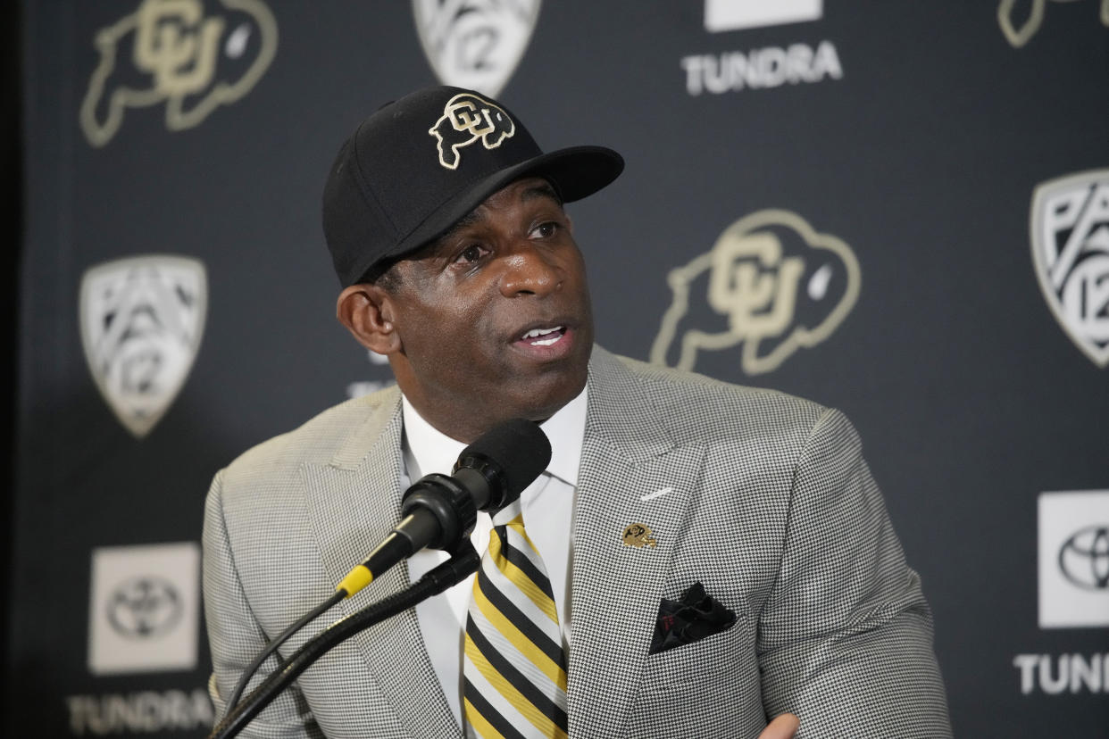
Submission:
<svg viewBox="0 0 1109 739">
<path fill-rule="evenodd" d="M 142 438 L 177 397 L 200 349 L 207 312 L 204 265 L 152 255 L 85 271 L 81 341 L 101 396 Z"/>
</svg>

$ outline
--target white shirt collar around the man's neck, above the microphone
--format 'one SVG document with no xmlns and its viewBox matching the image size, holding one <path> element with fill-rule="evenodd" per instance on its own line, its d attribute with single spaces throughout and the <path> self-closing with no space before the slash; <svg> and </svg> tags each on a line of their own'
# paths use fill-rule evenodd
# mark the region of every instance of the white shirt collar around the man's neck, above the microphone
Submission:
<svg viewBox="0 0 1109 739">
<path fill-rule="evenodd" d="M 578 484 L 581 443 L 586 435 L 588 388 L 563 406 L 539 427 L 551 442 L 551 461 L 547 472 L 569 485 Z M 409 479 L 415 482 L 433 472 L 450 474 L 466 444 L 442 433 L 416 411 L 401 394 L 404 414 L 404 454 Z"/>
</svg>

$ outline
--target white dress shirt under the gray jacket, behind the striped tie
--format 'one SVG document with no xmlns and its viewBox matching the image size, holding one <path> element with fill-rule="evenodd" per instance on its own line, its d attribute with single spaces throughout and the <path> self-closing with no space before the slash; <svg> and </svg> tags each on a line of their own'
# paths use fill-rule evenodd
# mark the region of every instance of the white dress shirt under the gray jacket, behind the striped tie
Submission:
<svg viewBox="0 0 1109 739">
<path fill-rule="evenodd" d="M 411 482 L 433 472 L 450 474 L 466 444 L 437 431 L 416 412 L 407 398 L 403 398 L 401 403 L 405 460 L 401 487 L 407 489 Z M 540 424 L 551 442 L 551 461 L 547 470 L 520 495 L 523 525 L 547 567 L 567 647 L 570 644 L 571 620 L 573 499 L 578 485 L 581 442 L 586 434 L 586 390 L 582 390 L 577 398 Z M 491 528 L 489 514 L 478 512 L 477 525 L 470 535 L 478 555 L 484 555 L 489 547 Z M 409 577 L 416 582 L 446 560 L 447 554 L 438 550 L 418 552 L 408 560 Z M 446 593 L 416 606 L 416 617 L 419 620 L 428 656 L 431 658 L 431 667 L 442 685 L 442 692 L 459 727 L 464 726 L 461 673 L 466 612 L 470 605 L 472 591 L 471 575 Z"/>
</svg>

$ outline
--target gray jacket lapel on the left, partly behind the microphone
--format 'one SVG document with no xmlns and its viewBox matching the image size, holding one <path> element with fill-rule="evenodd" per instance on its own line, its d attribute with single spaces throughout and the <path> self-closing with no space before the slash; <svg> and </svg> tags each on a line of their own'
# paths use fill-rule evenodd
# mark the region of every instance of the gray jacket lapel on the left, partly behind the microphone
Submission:
<svg viewBox="0 0 1109 739">
<path fill-rule="evenodd" d="M 333 582 L 342 579 L 400 519 L 401 425 L 397 392 L 394 402 L 381 403 L 350 435 L 330 464 L 304 468 L 313 530 Z M 339 607 L 344 614 L 353 614 L 408 584 L 407 564 L 401 563 Z M 461 736 L 427 656 L 414 609 L 353 639 L 410 736 Z"/>
</svg>

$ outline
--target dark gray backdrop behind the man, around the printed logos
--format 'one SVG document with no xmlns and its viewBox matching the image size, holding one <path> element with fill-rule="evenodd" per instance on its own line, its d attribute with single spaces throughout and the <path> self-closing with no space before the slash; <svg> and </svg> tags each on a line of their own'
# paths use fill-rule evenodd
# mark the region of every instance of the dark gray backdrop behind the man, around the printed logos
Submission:
<svg viewBox="0 0 1109 739">
<path fill-rule="evenodd" d="M 746 374 L 739 347 L 696 369 L 858 427 L 935 612 L 960 736 L 1109 736 L 1109 685 L 1024 695 L 1013 661 L 1109 651 L 1103 628 L 1037 624 L 1037 495 L 1109 487 L 1109 370 L 1052 317 L 1028 235 L 1037 184 L 1109 166 L 1109 28 L 1098 1 L 1042 2 L 1021 48 L 985 0 L 825 0 L 816 21 L 719 33 L 698 0 L 548 2 L 499 95 L 541 145 L 628 161 L 570 206 L 610 350 L 648 358 L 669 270 L 744 215 L 784 208 L 849 245 L 862 287 L 831 337 L 766 373 Z M 164 103 L 129 110 L 93 147 L 78 123 L 93 38 L 138 2 L 23 3 L 9 736 L 95 733 L 67 697 L 202 687 L 205 638 L 194 671 L 90 674 L 91 551 L 199 540 L 218 468 L 386 379 L 333 318 L 319 193 L 362 116 L 436 78 L 407 2 L 266 4 L 277 51 L 245 96 L 177 132 Z M 685 57 L 822 41 L 842 79 L 686 91 Z M 87 268 L 147 253 L 204 261 L 207 322 L 180 396 L 136 439 L 90 374 L 78 291 Z"/>
</svg>

